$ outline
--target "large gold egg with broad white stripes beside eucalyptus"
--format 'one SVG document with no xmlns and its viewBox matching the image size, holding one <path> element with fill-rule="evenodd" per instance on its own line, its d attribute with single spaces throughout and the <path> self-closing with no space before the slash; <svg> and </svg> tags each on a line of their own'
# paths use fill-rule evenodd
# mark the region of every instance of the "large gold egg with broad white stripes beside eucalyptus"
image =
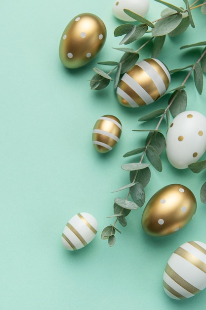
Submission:
<svg viewBox="0 0 206 310">
<path fill-rule="evenodd" d="M 144 59 L 124 73 L 117 87 L 117 99 L 127 107 L 150 104 L 165 94 L 169 83 L 170 74 L 163 62 Z"/>
</svg>

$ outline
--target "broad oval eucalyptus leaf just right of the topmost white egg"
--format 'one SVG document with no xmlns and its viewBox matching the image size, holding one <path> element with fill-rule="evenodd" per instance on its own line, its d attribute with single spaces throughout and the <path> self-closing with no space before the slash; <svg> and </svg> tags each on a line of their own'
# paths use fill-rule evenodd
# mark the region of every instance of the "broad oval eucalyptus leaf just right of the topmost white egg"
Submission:
<svg viewBox="0 0 206 310">
<path fill-rule="evenodd" d="M 152 29 L 152 36 L 159 37 L 170 33 L 181 23 L 181 20 L 182 15 L 179 13 L 160 19 L 156 22 L 155 28 Z"/>
</svg>

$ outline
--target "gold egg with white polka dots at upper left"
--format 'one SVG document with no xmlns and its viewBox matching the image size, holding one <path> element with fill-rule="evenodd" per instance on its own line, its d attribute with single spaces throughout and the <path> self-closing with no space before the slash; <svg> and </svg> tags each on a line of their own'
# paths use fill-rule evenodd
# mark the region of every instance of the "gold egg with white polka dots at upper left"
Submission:
<svg viewBox="0 0 206 310">
<path fill-rule="evenodd" d="M 106 39 L 103 21 L 91 13 L 74 17 L 65 28 L 59 57 L 67 68 L 79 68 L 90 62 L 101 50 Z"/>
</svg>

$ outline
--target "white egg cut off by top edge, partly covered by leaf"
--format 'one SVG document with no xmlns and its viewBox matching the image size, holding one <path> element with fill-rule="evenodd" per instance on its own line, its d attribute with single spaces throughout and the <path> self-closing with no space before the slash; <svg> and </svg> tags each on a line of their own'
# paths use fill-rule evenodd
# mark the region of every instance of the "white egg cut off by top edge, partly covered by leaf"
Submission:
<svg viewBox="0 0 206 310">
<path fill-rule="evenodd" d="M 149 11 L 149 0 L 116 0 L 113 4 L 113 14 L 115 17 L 124 21 L 134 21 L 133 18 L 124 13 L 124 8 L 130 11 L 145 16 Z"/>
</svg>

